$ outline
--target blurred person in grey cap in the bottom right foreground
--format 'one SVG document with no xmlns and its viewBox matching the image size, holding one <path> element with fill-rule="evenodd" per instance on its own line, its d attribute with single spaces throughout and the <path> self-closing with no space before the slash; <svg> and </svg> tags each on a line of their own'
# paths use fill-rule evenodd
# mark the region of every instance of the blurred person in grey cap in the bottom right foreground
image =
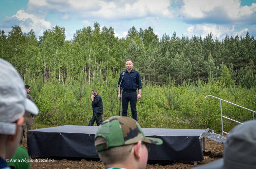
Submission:
<svg viewBox="0 0 256 169">
<path fill-rule="evenodd" d="M 247 121 L 230 131 L 221 160 L 196 167 L 196 169 L 231 168 L 256 168 L 256 121 Z"/>
</svg>

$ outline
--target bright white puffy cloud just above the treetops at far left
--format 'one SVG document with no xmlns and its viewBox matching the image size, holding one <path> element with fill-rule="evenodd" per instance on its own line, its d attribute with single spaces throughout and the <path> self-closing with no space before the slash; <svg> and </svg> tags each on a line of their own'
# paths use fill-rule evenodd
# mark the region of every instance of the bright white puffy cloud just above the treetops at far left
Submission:
<svg viewBox="0 0 256 169">
<path fill-rule="evenodd" d="M 43 35 L 45 29 L 51 28 L 51 23 L 44 20 L 34 14 L 29 14 L 24 10 L 18 10 L 15 15 L 10 17 L 11 19 L 16 19 L 18 25 L 22 28 L 23 32 L 29 32 L 31 29 L 39 35 Z"/>
</svg>

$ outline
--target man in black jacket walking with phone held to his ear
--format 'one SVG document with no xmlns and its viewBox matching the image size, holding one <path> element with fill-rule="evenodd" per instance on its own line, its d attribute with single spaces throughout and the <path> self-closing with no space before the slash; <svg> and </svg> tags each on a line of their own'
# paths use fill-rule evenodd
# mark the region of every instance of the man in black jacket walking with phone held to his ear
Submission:
<svg viewBox="0 0 256 169">
<path fill-rule="evenodd" d="M 93 126 L 94 122 L 96 121 L 97 126 L 100 126 L 102 123 L 102 114 L 103 114 L 103 105 L 102 105 L 102 98 L 96 91 L 96 89 L 93 89 L 91 91 L 91 107 L 93 115 L 91 117 L 91 120 L 89 121 L 88 126 Z"/>
</svg>

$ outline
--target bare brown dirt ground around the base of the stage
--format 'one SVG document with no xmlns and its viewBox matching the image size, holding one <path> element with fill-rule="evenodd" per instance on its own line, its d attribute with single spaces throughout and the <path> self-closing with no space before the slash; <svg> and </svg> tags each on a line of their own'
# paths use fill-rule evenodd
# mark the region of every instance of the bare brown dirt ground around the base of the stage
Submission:
<svg viewBox="0 0 256 169">
<path fill-rule="evenodd" d="M 27 138 L 23 138 L 23 144 L 27 148 Z M 146 169 L 166 169 L 166 168 L 179 168 L 188 169 L 202 164 L 206 164 L 222 158 L 224 145 L 206 139 L 204 160 L 197 162 L 194 161 L 148 161 Z M 52 159 L 54 162 L 30 162 L 31 169 L 104 169 L 104 164 L 99 159 L 82 159 L 82 158 L 67 158 L 67 157 L 35 157 L 32 159 Z"/>
</svg>

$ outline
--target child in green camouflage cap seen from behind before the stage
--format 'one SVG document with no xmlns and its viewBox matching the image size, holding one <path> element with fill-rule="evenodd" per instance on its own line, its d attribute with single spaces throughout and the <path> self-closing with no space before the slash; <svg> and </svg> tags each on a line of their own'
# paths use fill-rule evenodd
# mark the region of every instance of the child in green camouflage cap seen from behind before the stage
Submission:
<svg viewBox="0 0 256 169">
<path fill-rule="evenodd" d="M 105 120 L 95 134 L 95 147 L 106 168 L 145 169 L 151 144 L 159 138 L 145 137 L 139 124 L 129 117 Z"/>
</svg>

